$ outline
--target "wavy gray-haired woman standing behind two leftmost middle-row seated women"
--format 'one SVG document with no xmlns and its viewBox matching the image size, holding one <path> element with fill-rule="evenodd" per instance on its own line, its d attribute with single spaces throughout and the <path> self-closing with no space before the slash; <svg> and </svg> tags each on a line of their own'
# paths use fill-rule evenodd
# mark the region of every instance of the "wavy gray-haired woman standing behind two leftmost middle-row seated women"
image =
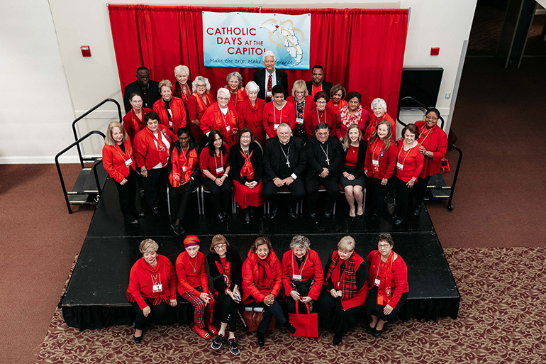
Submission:
<svg viewBox="0 0 546 364">
<path fill-rule="evenodd" d="M 199 147 L 203 148 L 206 143 L 206 138 L 201 131 L 201 118 L 205 114 L 205 110 L 208 106 L 214 104 L 214 98 L 211 94 L 211 84 L 203 76 L 197 76 L 194 82 L 191 84 L 194 91 L 191 97 L 188 99 L 188 118 L 189 118 L 189 132 L 193 136 Z"/>
</svg>

